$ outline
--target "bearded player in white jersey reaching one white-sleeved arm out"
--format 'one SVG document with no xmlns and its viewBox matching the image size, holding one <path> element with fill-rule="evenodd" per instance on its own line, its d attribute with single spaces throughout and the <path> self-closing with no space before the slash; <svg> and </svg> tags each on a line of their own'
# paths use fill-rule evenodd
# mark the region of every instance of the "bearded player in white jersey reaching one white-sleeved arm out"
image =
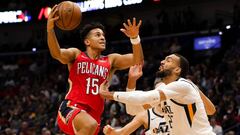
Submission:
<svg viewBox="0 0 240 135">
<path fill-rule="evenodd" d="M 159 75 L 165 86 L 152 91 L 109 92 L 105 84 L 100 88 L 102 97 L 125 104 L 144 105 L 154 102 L 165 104 L 164 111 L 172 120 L 173 135 L 215 135 L 209 124 L 206 109 L 198 87 L 184 79 L 189 69 L 186 58 L 172 54 L 161 61 Z"/>
</svg>

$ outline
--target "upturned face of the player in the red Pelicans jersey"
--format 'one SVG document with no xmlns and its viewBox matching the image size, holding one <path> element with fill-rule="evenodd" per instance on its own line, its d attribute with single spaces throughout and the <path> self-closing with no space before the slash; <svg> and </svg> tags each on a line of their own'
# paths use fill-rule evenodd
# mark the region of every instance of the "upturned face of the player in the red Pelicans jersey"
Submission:
<svg viewBox="0 0 240 135">
<path fill-rule="evenodd" d="M 92 29 L 85 40 L 85 44 L 92 49 L 104 50 L 106 48 L 104 32 L 99 28 Z"/>
</svg>

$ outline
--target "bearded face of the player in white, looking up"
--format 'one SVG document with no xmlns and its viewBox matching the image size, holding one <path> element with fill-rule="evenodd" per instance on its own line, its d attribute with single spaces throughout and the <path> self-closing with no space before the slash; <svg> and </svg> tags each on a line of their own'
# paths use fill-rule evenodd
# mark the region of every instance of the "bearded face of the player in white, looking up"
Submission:
<svg viewBox="0 0 240 135">
<path fill-rule="evenodd" d="M 157 74 L 159 77 L 166 77 L 172 75 L 175 72 L 177 73 L 177 70 L 179 68 L 179 57 L 172 54 L 165 57 L 165 59 L 161 61 L 159 72 Z"/>
</svg>

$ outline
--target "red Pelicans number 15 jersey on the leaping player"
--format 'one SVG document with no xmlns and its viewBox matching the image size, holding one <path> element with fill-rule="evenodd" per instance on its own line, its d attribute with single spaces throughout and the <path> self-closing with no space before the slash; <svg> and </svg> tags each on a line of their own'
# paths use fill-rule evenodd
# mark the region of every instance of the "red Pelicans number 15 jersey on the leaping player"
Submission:
<svg viewBox="0 0 240 135">
<path fill-rule="evenodd" d="M 102 112 L 104 100 L 99 96 L 99 86 L 108 78 L 110 67 L 107 56 L 93 60 L 81 52 L 69 71 L 66 99 L 87 104 Z"/>
</svg>

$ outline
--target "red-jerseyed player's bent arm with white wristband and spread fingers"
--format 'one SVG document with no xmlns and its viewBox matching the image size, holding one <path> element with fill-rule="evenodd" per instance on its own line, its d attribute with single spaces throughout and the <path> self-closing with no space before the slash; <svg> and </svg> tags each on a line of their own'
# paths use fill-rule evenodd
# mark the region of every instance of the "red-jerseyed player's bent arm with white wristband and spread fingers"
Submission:
<svg viewBox="0 0 240 135">
<path fill-rule="evenodd" d="M 139 37 L 139 28 L 141 24 L 142 24 L 141 20 L 138 23 L 136 23 L 136 18 L 133 18 L 132 22 L 130 21 L 130 19 L 128 19 L 127 23 L 123 23 L 124 28 L 121 28 L 120 30 L 127 37 L 130 38 L 133 53 L 125 55 L 120 54 L 109 55 L 112 59 L 113 67 L 116 70 L 126 69 L 132 65 L 143 63 L 144 59 L 143 51 Z"/>
</svg>

